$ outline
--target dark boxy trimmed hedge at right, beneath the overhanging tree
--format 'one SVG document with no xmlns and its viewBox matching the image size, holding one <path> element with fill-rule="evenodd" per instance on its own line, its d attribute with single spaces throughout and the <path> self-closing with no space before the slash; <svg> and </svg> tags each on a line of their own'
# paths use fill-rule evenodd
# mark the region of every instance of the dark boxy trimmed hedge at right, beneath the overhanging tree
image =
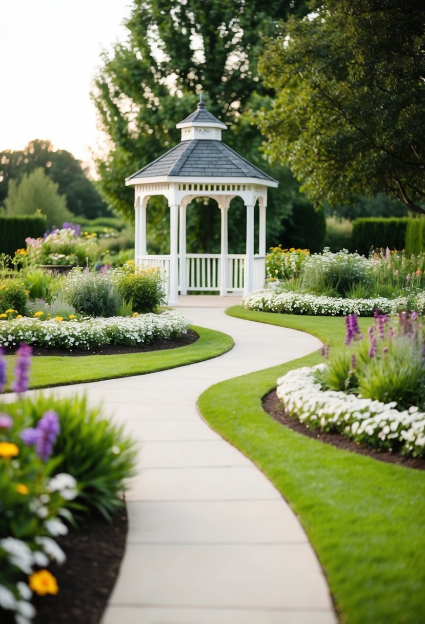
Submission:
<svg viewBox="0 0 425 624">
<path fill-rule="evenodd" d="M 365 217 L 353 222 L 351 241 L 353 248 L 358 253 L 368 256 L 373 249 L 397 249 L 405 248 L 406 230 L 411 221 L 408 217 L 383 218 Z M 416 221 L 416 219 L 415 219 Z"/>
</svg>

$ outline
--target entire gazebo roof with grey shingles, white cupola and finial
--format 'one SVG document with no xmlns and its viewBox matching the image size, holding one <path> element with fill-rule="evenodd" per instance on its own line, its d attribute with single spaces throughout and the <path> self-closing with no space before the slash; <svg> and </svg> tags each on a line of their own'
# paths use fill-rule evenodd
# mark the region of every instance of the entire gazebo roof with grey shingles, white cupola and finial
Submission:
<svg viewBox="0 0 425 624">
<path fill-rule="evenodd" d="M 236 178 L 250 178 L 265 186 L 277 186 L 270 175 L 222 143 L 221 129 L 227 129 L 227 126 L 206 110 L 203 94 L 197 110 L 176 127 L 182 128 L 181 142 L 126 178 L 127 185 L 133 185 L 138 180 L 147 182 L 146 178 L 205 177 L 231 178 L 235 181 Z M 184 132 L 189 139 L 183 138 Z M 216 138 L 210 138 L 211 135 Z"/>
</svg>

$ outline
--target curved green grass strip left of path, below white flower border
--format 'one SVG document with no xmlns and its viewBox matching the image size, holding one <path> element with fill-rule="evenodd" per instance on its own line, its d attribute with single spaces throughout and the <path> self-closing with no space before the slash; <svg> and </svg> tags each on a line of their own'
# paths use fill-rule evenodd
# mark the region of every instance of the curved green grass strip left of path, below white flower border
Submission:
<svg viewBox="0 0 425 624">
<path fill-rule="evenodd" d="M 196 343 L 176 349 L 125 355 L 42 356 L 31 361 L 30 388 L 98 381 L 163 371 L 205 359 L 216 358 L 233 346 L 227 334 L 192 326 L 199 334 Z M 11 379 L 14 356 L 7 356 Z"/>
</svg>

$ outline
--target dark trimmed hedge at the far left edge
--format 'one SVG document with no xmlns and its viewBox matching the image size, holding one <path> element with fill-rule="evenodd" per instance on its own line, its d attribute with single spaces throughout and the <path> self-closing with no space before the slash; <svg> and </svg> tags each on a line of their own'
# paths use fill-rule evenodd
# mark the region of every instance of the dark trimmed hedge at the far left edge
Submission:
<svg viewBox="0 0 425 624">
<path fill-rule="evenodd" d="M 0 253 L 14 256 L 17 249 L 25 248 L 25 239 L 39 238 L 47 229 L 44 217 L 18 215 L 17 217 L 0 217 Z"/>
</svg>

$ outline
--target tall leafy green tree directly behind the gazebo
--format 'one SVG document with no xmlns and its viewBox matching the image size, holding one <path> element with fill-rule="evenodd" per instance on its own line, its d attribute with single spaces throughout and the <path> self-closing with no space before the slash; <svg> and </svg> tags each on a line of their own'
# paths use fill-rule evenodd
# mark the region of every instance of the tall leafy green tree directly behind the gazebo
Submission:
<svg viewBox="0 0 425 624">
<path fill-rule="evenodd" d="M 262 36 L 274 34 L 277 20 L 289 12 L 301 16 L 306 11 L 303 0 L 133 2 L 125 24 L 128 41 L 103 54 L 93 90 L 100 125 L 110 138 L 110 152 L 97 163 L 101 190 L 115 210 L 133 215 L 133 190 L 125 187 L 124 178 L 179 142 L 175 124 L 196 108 L 201 90 L 212 114 L 232 126 L 223 140 L 270 171 L 258 152 L 258 130 L 241 124 L 241 118 L 252 97 L 267 95 L 257 71 Z M 272 175 L 279 171 L 274 167 Z M 286 214 L 289 208 L 279 192 L 270 195 L 270 222 L 279 221 L 273 213 Z M 158 227 L 164 214 L 156 200 L 151 218 Z M 203 232 L 216 232 L 218 211 L 204 210 L 204 218 L 211 227 L 204 221 Z M 189 222 L 189 233 L 198 225 L 196 218 Z"/>
</svg>

